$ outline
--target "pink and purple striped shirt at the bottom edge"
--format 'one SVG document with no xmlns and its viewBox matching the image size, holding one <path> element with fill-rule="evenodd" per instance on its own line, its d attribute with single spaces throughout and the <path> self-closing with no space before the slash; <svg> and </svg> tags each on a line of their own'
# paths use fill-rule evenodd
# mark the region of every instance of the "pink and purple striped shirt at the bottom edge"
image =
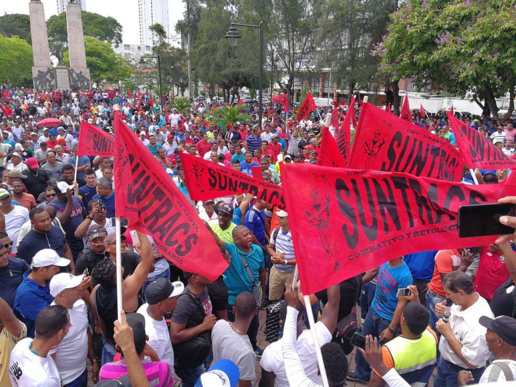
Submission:
<svg viewBox="0 0 516 387">
<path fill-rule="evenodd" d="M 172 387 L 174 385 L 172 370 L 167 363 L 142 360 L 141 365 L 151 387 Z M 127 375 L 127 364 L 123 360 L 106 363 L 100 370 L 100 380 L 118 379 L 125 375 Z"/>
</svg>

